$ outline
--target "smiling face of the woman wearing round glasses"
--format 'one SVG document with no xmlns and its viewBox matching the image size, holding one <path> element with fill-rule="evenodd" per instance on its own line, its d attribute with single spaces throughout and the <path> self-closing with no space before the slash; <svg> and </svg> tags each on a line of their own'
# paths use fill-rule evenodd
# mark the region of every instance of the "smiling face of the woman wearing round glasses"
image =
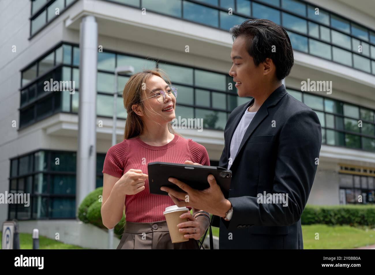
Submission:
<svg viewBox="0 0 375 275">
<path fill-rule="evenodd" d="M 145 100 L 142 102 L 144 104 L 144 113 L 147 115 L 147 117 L 157 123 L 172 121 L 176 117 L 174 112 L 176 99 L 172 96 L 173 93 L 167 93 L 167 91 L 171 90 L 169 85 L 159 76 L 152 75 L 146 81 L 145 87 L 146 89 L 142 95 L 142 99 Z M 165 92 L 164 103 L 160 103 L 157 97 L 154 96 L 155 94 L 158 94 L 157 91 Z M 161 98 L 162 101 L 163 96 L 160 94 L 158 98 Z"/>
</svg>

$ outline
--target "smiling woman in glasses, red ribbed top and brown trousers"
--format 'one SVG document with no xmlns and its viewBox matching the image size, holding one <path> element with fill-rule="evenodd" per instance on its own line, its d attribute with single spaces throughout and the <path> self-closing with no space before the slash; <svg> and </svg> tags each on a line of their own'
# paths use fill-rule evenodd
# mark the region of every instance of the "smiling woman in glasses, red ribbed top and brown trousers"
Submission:
<svg viewBox="0 0 375 275">
<path fill-rule="evenodd" d="M 125 205 L 126 223 L 117 249 L 198 249 L 196 240 L 209 226 L 209 214 L 196 215 L 196 209 L 193 215 L 182 214 L 189 221 L 179 224 L 180 231 L 189 241 L 172 244 L 163 211 L 174 202 L 169 196 L 148 191 L 150 162 L 210 165 L 204 146 L 172 129 L 177 89 L 163 78 L 167 79 L 161 70 L 145 70 L 127 81 L 124 140 L 105 156 L 101 214 L 108 229 L 121 220 Z"/>
</svg>

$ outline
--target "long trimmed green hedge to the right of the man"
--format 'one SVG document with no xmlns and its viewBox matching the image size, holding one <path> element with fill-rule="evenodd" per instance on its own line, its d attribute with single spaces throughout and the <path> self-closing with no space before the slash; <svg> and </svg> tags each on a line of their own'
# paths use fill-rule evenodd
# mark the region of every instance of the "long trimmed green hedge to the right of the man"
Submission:
<svg viewBox="0 0 375 275">
<path fill-rule="evenodd" d="M 375 227 L 374 205 L 306 205 L 302 224 L 331 224 Z"/>
</svg>

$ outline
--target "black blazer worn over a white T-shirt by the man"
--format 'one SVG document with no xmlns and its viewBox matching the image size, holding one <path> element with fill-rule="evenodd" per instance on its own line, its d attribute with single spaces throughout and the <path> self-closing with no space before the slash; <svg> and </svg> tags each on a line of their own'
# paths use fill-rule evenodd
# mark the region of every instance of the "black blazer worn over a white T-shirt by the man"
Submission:
<svg viewBox="0 0 375 275">
<path fill-rule="evenodd" d="M 252 102 L 229 115 L 221 167 L 228 167 L 234 130 Z M 284 85 L 267 98 L 230 167 L 232 218 L 213 219 L 213 226 L 220 226 L 220 249 L 303 249 L 300 218 L 317 171 L 321 139 L 317 114 L 288 94 Z M 264 191 L 288 194 L 288 206 L 258 203 L 257 194 Z"/>
</svg>

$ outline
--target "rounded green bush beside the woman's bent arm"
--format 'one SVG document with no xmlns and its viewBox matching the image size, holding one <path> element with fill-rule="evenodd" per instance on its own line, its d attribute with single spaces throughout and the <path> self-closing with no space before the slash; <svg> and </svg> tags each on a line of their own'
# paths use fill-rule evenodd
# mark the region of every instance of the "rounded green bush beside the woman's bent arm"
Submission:
<svg viewBox="0 0 375 275">
<path fill-rule="evenodd" d="M 78 207 L 78 218 L 84 223 L 91 223 L 102 229 L 107 229 L 102 222 L 101 208 L 102 203 L 99 202 L 99 196 L 103 194 L 103 187 L 96 188 L 88 194 Z M 114 227 L 114 233 L 118 238 L 124 232 L 125 216 L 123 215 L 120 222 Z"/>
</svg>

